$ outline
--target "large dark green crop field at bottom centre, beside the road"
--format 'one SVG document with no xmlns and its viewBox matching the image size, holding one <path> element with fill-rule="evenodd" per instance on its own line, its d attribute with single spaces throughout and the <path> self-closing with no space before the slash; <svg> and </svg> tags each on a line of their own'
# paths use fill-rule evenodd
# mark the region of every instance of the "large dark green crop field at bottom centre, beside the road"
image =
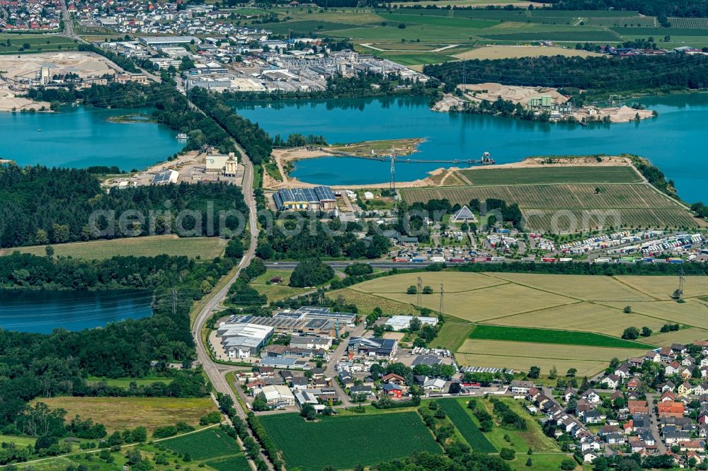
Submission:
<svg viewBox="0 0 708 471">
<path fill-rule="evenodd" d="M 282 450 L 288 469 L 351 469 L 419 451 L 442 451 L 416 412 L 321 417 L 316 422 L 299 414 L 277 414 L 261 417 L 261 424 Z"/>
</svg>

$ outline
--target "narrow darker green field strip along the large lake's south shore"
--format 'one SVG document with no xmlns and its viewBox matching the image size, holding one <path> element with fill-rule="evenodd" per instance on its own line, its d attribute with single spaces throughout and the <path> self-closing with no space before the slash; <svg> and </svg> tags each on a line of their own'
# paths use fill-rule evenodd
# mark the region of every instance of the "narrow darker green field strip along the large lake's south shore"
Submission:
<svg viewBox="0 0 708 471">
<path fill-rule="evenodd" d="M 542 183 L 636 183 L 632 167 L 475 168 L 459 170 L 473 185 L 540 185 Z"/>
</svg>

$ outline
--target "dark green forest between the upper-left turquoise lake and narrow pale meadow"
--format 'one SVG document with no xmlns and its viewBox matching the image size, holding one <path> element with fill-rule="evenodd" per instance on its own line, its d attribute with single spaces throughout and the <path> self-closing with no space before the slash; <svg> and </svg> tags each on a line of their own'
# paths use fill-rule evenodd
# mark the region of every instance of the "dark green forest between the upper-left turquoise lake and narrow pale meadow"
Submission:
<svg viewBox="0 0 708 471">
<path fill-rule="evenodd" d="M 248 213 L 243 194 L 234 185 L 181 183 L 106 193 L 89 170 L 39 165 L 1 167 L 0 200 L 4 202 L 0 207 L 0 248 L 143 236 L 151 231 L 177 233 L 178 226 L 192 231 L 195 236 L 215 235 L 219 211 Z M 213 205 L 214 228 L 207 220 L 210 205 Z M 202 217 L 200 221 L 193 216 L 178 218 L 183 210 L 200 211 Z M 104 212 L 92 220 L 92 214 L 98 214 L 94 211 Z M 115 214 L 112 217 L 105 211 L 115 211 Z M 139 211 L 144 217 L 139 221 L 139 218 L 126 220 L 125 227 L 121 228 L 120 216 L 124 211 Z M 150 211 L 155 211 L 152 228 Z M 239 221 L 229 216 L 225 226 L 236 230 Z"/>
</svg>

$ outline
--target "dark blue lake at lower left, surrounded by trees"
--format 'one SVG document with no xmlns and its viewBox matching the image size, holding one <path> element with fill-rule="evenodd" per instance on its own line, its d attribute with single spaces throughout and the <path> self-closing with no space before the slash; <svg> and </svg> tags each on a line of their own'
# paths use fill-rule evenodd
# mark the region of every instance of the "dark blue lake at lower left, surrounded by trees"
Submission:
<svg viewBox="0 0 708 471">
<path fill-rule="evenodd" d="M 0 290 L 0 327 L 48 334 L 103 327 L 108 322 L 152 315 L 152 293 L 144 290 Z"/>
</svg>

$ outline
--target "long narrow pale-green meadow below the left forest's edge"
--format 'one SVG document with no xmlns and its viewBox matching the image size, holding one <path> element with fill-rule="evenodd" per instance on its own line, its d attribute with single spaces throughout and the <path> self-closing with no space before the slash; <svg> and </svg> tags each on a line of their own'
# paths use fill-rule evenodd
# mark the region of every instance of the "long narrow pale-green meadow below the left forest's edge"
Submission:
<svg viewBox="0 0 708 471">
<path fill-rule="evenodd" d="M 185 255 L 190 258 L 212 260 L 220 257 L 226 248 L 218 237 L 179 238 L 177 236 L 146 236 L 112 240 L 92 240 L 52 245 L 55 257 L 74 257 L 86 260 L 104 260 L 122 256 L 155 257 L 156 255 Z M 44 256 L 46 245 L 17 247 L 0 250 L 0 255 L 9 255 L 19 250 L 22 253 Z"/>
</svg>

